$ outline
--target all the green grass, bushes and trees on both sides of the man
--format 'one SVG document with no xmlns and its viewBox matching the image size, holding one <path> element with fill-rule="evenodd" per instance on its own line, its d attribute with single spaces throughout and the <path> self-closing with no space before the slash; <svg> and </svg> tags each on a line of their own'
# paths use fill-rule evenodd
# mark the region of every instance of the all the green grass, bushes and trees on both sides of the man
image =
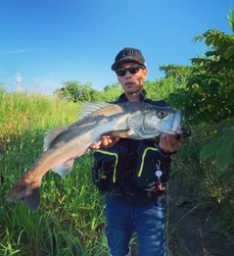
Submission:
<svg viewBox="0 0 234 256">
<path fill-rule="evenodd" d="M 227 18 L 234 31 L 232 10 Z M 173 156 L 171 182 L 209 211 L 216 230 L 233 234 L 234 35 L 209 29 L 194 40 L 209 47 L 203 58 L 191 67 L 160 67 L 165 77 L 147 80 L 145 88 L 152 99 L 183 110 L 183 124 L 192 130 Z M 108 255 L 104 197 L 91 182 L 91 153 L 75 161 L 66 179 L 45 175 L 36 213 L 5 196 L 41 154 L 47 129 L 76 121 L 83 101 L 114 101 L 120 93 L 118 83 L 96 91 L 91 83 L 64 81 L 53 97 L 6 92 L 0 84 L 0 255 Z"/>
</svg>

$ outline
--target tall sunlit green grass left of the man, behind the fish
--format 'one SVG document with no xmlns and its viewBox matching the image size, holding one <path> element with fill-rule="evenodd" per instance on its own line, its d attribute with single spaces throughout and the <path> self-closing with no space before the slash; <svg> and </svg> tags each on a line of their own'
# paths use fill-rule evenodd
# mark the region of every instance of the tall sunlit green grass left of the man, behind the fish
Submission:
<svg viewBox="0 0 234 256">
<path fill-rule="evenodd" d="M 75 161 L 66 179 L 47 173 L 32 213 L 6 202 L 11 185 L 42 153 L 43 133 L 77 120 L 79 104 L 33 93 L 0 94 L 0 255 L 105 255 L 104 198 L 91 185 L 92 158 Z"/>
</svg>

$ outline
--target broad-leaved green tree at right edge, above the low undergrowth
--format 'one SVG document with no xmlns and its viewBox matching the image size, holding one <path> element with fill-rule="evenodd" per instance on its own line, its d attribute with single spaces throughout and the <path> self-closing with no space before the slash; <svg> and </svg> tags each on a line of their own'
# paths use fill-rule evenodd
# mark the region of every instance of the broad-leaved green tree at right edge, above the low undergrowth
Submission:
<svg viewBox="0 0 234 256">
<path fill-rule="evenodd" d="M 234 25 L 233 11 L 228 17 Z M 183 109 L 191 124 L 207 124 L 211 141 L 201 158 L 215 154 L 215 164 L 225 171 L 234 159 L 234 36 L 209 29 L 194 38 L 205 41 L 209 50 L 204 57 L 192 59 L 192 73 L 186 88 L 180 88 L 166 99 L 175 108 Z M 234 170 L 228 173 L 234 179 Z M 230 179 L 229 179 L 230 181 Z"/>
</svg>

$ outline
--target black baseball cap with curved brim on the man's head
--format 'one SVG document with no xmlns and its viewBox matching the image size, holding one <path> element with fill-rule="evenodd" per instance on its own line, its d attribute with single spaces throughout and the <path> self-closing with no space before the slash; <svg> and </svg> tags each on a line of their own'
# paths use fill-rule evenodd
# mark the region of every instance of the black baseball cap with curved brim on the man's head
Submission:
<svg viewBox="0 0 234 256">
<path fill-rule="evenodd" d="M 126 47 L 117 54 L 112 70 L 116 71 L 119 65 L 126 62 L 137 63 L 146 68 L 145 59 L 141 51 L 135 48 Z"/>
</svg>

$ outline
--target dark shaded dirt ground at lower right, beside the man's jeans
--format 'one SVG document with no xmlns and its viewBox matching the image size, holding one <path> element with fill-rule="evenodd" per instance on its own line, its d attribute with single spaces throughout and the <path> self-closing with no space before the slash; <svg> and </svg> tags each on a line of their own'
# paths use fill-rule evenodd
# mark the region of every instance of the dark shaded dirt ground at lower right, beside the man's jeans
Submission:
<svg viewBox="0 0 234 256">
<path fill-rule="evenodd" d="M 234 256 L 234 236 L 213 229 L 201 204 L 168 197 L 169 223 L 178 237 L 169 244 L 171 256 Z"/>
</svg>

